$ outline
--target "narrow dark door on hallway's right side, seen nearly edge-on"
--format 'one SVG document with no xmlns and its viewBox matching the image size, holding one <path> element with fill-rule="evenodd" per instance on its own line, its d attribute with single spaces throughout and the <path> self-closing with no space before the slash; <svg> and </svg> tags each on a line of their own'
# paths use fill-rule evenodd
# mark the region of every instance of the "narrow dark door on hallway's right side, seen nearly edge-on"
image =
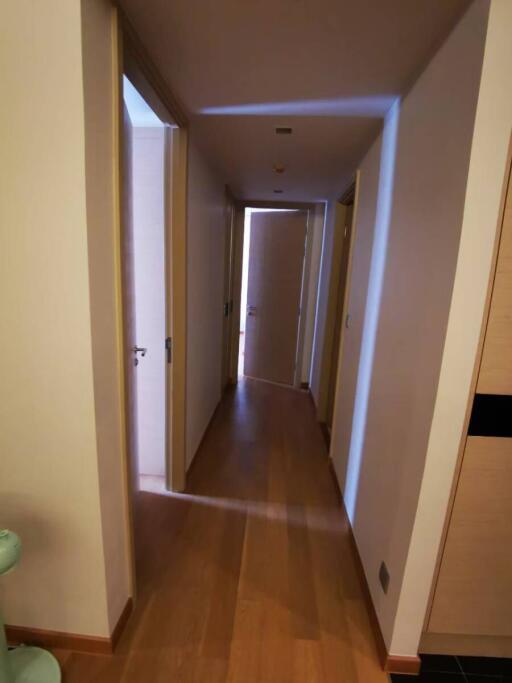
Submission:
<svg viewBox="0 0 512 683">
<path fill-rule="evenodd" d="M 350 244 L 352 239 L 352 217 L 354 215 L 354 205 L 347 206 L 345 221 L 343 225 L 343 247 L 341 252 L 341 264 L 338 280 L 338 291 L 336 293 L 336 317 L 334 322 L 334 335 L 331 351 L 331 370 L 329 374 L 329 384 L 327 388 L 327 409 L 326 424 L 329 431 L 332 430 L 334 414 L 334 400 L 336 396 L 336 379 L 338 377 L 338 363 L 340 358 L 340 341 L 342 325 L 344 325 L 343 308 L 345 304 L 345 292 L 347 289 L 348 264 L 350 254 Z"/>
</svg>

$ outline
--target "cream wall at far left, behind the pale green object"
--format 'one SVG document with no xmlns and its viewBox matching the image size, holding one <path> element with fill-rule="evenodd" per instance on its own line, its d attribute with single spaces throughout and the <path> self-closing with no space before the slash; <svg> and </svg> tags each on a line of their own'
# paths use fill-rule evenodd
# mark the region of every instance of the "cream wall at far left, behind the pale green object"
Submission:
<svg viewBox="0 0 512 683">
<path fill-rule="evenodd" d="M 80 2 L 4 3 L 0 32 L 0 500 L 24 543 L 0 602 L 105 636 Z"/>
</svg>

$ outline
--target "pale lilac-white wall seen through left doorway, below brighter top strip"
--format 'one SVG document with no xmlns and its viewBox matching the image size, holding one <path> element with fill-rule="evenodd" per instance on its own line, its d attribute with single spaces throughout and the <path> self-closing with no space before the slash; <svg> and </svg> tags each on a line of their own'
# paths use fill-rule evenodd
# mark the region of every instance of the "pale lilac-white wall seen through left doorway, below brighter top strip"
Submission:
<svg viewBox="0 0 512 683">
<path fill-rule="evenodd" d="M 163 126 L 133 128 L 135 334 L 139 473 L 165 475 L 165 239 Z"/>
</svg>

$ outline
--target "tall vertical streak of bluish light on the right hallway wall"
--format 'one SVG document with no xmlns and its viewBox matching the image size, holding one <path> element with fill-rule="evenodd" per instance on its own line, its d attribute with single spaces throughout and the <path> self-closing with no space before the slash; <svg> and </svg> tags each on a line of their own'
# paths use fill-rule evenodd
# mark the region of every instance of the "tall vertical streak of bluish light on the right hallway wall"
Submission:
<svg viewBox="0 0 512 683">
<path fill-rule="evenodd" d="M 382 133 L 375 231 L 354 401 L 354 415 L 352 418 L 352 436 L 344 491 L 345 506 L 352 524 L 354 523 L 361 460 L 363 457 L 368 400 L 382 298 L 382 285 L 386 266 L 391 209 L 393 204 L 393 184 L 399 117 L 400 100 L 396 99 L 393 106 L 386 114 Z"/>
</svg>

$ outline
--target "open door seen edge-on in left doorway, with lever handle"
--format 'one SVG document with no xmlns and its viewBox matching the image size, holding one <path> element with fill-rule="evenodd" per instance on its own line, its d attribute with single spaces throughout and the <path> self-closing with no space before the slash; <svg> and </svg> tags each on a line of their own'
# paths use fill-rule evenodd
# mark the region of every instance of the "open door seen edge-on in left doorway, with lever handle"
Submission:
<svg viewBox="0 0 512 683">
<path fill-rule="evenodd" d="M 139 464 L 137 454 L 137 374 L 133 356 L 135 346 L 135 255 L 132 209 L 132 147 L 133 131 L 126 105 L 123 107 L 122 145 L 122 277 L 123 277 L 123 324 L 125 367 L 126 439 L 129 459 L 130 488 L 139 488 Z"/>
</svg>

